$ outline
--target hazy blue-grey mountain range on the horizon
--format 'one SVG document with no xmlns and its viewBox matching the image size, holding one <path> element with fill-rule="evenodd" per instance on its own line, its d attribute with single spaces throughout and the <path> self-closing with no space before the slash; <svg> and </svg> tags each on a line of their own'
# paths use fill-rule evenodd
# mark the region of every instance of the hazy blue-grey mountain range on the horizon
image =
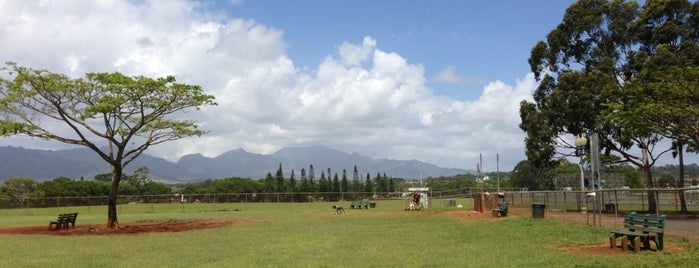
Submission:
<svg viewBox="0 0 699 268">
<path fill-rule="evenodd" d="M 334 175 L 352 178 L 354 167 L 360 176 L 372 177 L 384 173 L 394 178 L 418 179 L 472 173 L 463 169 L 442 168 L 418 160 L 374 159 L 357 153 L 345 153 L 325 146 L 285 147 L 272 154 L 255 154 L 243 149 L 228 151 L 216 157 L 189 154 L 176 163 L 148 154 L 139 156 L 127 166 L 126 174 L 146 166 L 151 178 L 164 182 L 193 182 L 207 179 L 242 177 L 261 179 L 267 173 L 274 175 L 282 165 L 284 177 L 294 170 L 300 178 L 301 169 L 309 171 L 313 165 L 316 178 L 328 168 Z M 0 181 L 26 177 L 36 181 L 58 177 L 93 179 L 95 175 L 110 173 L 107 162 L 87 148 L 67 150 L 37 150 L 22 147 L 0 147 Z"/>
</svg>

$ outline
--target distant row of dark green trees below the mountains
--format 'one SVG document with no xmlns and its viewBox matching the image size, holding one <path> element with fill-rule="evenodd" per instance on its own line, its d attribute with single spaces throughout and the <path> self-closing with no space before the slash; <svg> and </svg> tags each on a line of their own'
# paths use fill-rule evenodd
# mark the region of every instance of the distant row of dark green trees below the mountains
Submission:
<svg viewBox="0 0 699 268">
<path fill-rule="evenodd" d="M 126 183 L 119 187 L 119 195 L 167 195 L 173 193 L 182 194 L 222 194 L 222 193 L 309 193 L 309 192 L 394 192 L 397 185 L 402 185 L 404 179 L 394 179 L 376 174 L 374 178 L 369 173 L 365 177 L 359 175 L 357 167 L 354 167 L 352 179 L 348 179 L 347 172 L 342 170 L 342 179 L 337 173 L 332 179 L 326 176 L 326 171 L 321 171 L 319 179 L 315 177 L 313 165 L 309 171 L 301 169 L 300 178 L 296 179 L 292 170 L 289 177 L 285 177 L 281 164 L 276 176 L 271 173 L 264 180 L 250 178 L 231 177 L 225 179 L 206 180 L 192 182 L 184 185 L 166 184 L 149 178 L 147 167 L 138 168 L 131 175 L 124 175 L 122 180 Z M 331 170 L 327 170 L 331 174 Z M 27 198 L 31 197 L 81 197 L 81 196 L 108 196 L 110 194 L 111 174 L 100 174 L 94 180 L 73 180 L 59 177 L 53 180 L 38 183 L 30 178 L 10 178 L 0 186 L 0 198 L 16 200 L 21 206 Z M 173 188 L 178 188 L 173 190 Z"/>
</svg>

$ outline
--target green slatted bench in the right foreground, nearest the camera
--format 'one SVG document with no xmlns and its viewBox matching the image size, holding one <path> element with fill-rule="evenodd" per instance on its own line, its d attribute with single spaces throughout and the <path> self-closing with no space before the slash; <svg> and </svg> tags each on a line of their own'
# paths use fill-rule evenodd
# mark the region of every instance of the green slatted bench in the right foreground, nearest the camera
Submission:
<svg viewBox="0 0 699 268">
<path fill-rule="evenodd" d="M 627 250 L 629 246 L 633 247 L 634 252 L 639 252 L 641 247 L 650 249 L 650 241 L 653 241 L 655 248 L 661 251 L 663 250 L 665 221 L 665 215 L 626 213 L 624 214 L 625 229 L 611 231 L 609 247 L 615 248 L 616 239 L 621 237 L 622 250 Z"/>
</svg>

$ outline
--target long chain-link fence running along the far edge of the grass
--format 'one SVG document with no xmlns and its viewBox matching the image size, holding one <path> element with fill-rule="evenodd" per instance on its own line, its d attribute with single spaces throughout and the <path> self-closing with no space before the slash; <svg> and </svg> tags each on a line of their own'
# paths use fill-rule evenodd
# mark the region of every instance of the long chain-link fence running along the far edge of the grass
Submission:
<svg viewBox="0 0 699 268">
<path fill-rule="evenodd" d="M 657 200 L 657 212 L 679 212 L 680 194 L 684 192 L 687 209 L 699 211 L 699 190 L 697 189 L 616 189 L 597 190 L 594 196 L 580 191 L 523 191 L 517 189 L 491 189 L 469 187 L 448 191 L 432 191 L 433 199 L 472 198 L 478 193 L 504 193 L 505 201 L 513 208 L 531 208 L 532 204 L 544 204 L 546 209 L 564 211 L 599 211 L 614 213 L 626 211 L 648 211 L 648 196 Z M 327 192 L 327 193 L 231 193 L 231 194 L 185 194 L 185 195 L 137 195 L 120 196 L 118 204 L 129 203 L 258 203 L 258 202 L 336 202 L 352 200 L 408 199 L 410 193 L 368 193 L 368 192 Z M 106 196 L 90 197 L 34 197 L 0 198 L 0 209 L 47 208 L 73 206 L 105 206 Z M 653 211 L 655 212 L 655 211 Z"/>
</svg>

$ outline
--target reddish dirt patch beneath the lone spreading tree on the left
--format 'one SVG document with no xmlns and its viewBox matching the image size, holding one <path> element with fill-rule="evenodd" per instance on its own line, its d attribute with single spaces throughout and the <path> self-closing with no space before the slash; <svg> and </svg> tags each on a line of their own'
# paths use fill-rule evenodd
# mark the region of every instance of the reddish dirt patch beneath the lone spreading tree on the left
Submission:
<svg viewBox="0 0 699 268">
<path fill-rule="evenodd" d="M 143 233 L 185 232 L 255 223 L 258 223 L 258 221 L 248 219 L 143 221 L 122 224 L 117 228 L 109 228 L 104 224 L 81 224 L 76 225 L 75 228 L 53 231 L 49 230 L 47 226 L 26 226 L 0 229 L 0 234 L 137 235 Z"/>
</svg>

